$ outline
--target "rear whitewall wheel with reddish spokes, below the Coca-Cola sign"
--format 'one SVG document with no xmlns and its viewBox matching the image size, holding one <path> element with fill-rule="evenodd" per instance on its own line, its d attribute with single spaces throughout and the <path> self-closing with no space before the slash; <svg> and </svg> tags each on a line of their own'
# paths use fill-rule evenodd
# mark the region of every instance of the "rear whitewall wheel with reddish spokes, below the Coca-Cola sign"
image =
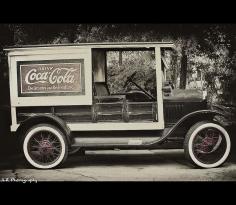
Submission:
<svg viewBox="0 0 236 205">
<path fill-rule="evenodd" d="M 40 124 L 26 133 L 23 151 L 31 165 L 36 168 L 49 169 L 66 160 L 68 146 L 64 134 L 57 127 Z"/>
</svg>

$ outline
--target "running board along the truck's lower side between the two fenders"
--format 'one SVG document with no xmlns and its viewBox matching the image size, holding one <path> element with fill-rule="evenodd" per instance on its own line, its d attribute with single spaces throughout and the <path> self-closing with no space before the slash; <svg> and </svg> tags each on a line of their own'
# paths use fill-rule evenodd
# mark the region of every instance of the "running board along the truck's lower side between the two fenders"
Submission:
<svg viewBox="0 0 236 205">
<path fill-rule="evenodd" d="M 72 147 L 90 146 L 140 146 L 156 142 L 160 137 L 77 137 L 74 138 Z"/>
</svg>

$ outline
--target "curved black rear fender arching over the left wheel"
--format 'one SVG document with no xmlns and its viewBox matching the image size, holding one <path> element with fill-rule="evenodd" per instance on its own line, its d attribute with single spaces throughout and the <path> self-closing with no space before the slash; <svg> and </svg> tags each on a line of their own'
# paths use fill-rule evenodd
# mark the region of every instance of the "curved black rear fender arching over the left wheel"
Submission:
<svg viewBox="0 0 236 205">
<path fill-rule="evenodd" d="M 34 115 L 32 117 L 27 118 L 25 121 L 23 121 L 18 129 L 16 130 L 17 136 L 22 136 L 26 132 L 27 129 L 30 127 L 40 124 L 40 123 L 49 123 L 51 125 L 54 125 L 58 127 L 63 134 L 65 134 L 67 138 L 68 145 L 71 145 L 71 131 L 70 128 L 67 126 L 64 120 L 61 118 L 51 115 L 51 114 L 39 114 Z"/>
</svg>

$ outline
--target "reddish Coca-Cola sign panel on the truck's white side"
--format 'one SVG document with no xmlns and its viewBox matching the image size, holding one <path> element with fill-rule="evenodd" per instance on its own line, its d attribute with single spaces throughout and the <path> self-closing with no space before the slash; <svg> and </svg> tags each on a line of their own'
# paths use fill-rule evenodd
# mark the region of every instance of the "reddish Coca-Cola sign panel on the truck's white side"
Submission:
<svg viewBox="0 0 236 205">
<path fill-rule="evenodd" d="M 21 64 L 21 94 L 81 92 L 82 63 Z"/>
</svg>

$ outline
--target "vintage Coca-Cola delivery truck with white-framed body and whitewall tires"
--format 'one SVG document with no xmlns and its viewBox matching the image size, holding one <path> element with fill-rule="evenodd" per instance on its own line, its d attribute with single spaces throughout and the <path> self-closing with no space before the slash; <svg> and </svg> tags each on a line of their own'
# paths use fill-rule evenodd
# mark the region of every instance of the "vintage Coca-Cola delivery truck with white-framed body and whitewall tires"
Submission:
<svg viewBox="0 0 236 205">
<path fill-rule="evenodd" d="M 5 49 L 11 131 L 22 139 L 26 160 L 49 169 L 78 150 L 184 148 L 195 166 L 224 163 L 231 143 L 222 110 L 208 107 L 201 92 L 181 94 L 166 82 L 162 52 L 173 47 L 131 42 Z"/>
</svg>

